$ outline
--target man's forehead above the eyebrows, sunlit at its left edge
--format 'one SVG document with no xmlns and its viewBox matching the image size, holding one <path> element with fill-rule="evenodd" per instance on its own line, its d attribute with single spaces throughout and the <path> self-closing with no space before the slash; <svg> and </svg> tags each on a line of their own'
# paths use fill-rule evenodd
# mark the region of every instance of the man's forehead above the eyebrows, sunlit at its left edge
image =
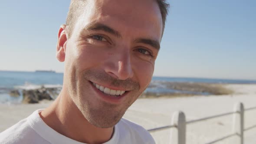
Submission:
<svg viewBox="0 0 256 144">
<path fill-rule="evenodd" d="M 82 28 L 96 22 L 127 36 L 161 39 L 162 18 L 156 0 L 89 0 L 78 24 Z"/>
</svg>

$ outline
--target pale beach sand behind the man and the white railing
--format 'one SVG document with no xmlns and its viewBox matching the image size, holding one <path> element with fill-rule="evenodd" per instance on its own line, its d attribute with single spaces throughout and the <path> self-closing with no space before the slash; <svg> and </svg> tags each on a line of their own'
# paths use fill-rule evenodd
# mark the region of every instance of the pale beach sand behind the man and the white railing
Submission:
<svg viewBox="0 0 256 144">
<path fill-rule="evenodd" d="M 233 111 L 234 104 L 243 102 L 245 108 L 256 106 L 256 85 L 226 85 L 232 95 L 190 96 L 175 98 L 140 98 L 125 113 L 124 118 L 142 125 L 146 129 L 171 124 L 174 111 L 183 111 L 187 121 Z M 33 111 L 46 108 L 51 101 L 40 104 L 0 105 L 0 132 L 29 116 Z M 223 116 L 187 125 L 186 144 L 205 144 L 231 134 L 233 116 Z M 245 128 L 256 124 L 256 109 L 245 112 Z M 152 132 L 157 144 L 170 141 L 171 129 Z M 244 132 L 245 144 L 256 144 L 256 128 Z M 216 144 L 236 144 L 237 137 Z"/>
</svg>

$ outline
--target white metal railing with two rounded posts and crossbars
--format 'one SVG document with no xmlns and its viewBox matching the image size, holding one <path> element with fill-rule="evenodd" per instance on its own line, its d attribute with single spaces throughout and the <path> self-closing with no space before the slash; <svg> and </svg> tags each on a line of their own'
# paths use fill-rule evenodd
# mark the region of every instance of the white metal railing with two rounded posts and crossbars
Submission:
<svg viewBox="0 0 256 144">
<path fill-rule="evenodd" d="M 163 130 L 163 129 L 167 129 L 167 128 L 177 128 L 177 132 L 173 132 L 171 134 L 171 144 L 186 144 L 186 124 L 192 124 L 195 122 L 204 121 L 204 120 L 211 119 L 211 118 L 217 118 L 217 117 L 222 117 L 222 116 L 233 114 L 233 133 L 227 134 L 223 137 L 220 137 L 216 140 L 210 141 L 206 144 L 213 144 L 213 143 L 222 141 L 226 138 L 229 138 L 229 137 L 232 137 L 235 135 L 239 136 L 239 138 L 240 138 L 239 144 L 243 144 L 243 132 L 248 131 L 252 128 L 256 128 L 256 124 L 253 126 L 250 126 L 248 128 L 244 128 L 244 111 L 249 111 L 249 110 L 253 110 L 253 109 L 256 109 L 256 107 L 244 109 L 243 103 L 240 102 L 234 106 L 233 112 L 223 113 L 220 115 L 213 115 L 210 117 L 200 118 L 200 119 L 192 120 L 192 121 L 186 121 L 184 112 L 176 111 L 173 114 L 171 125 L 149 129 L 148 131 L 153 132 L 153 131 L 159 131 L 159 130 Z"/>
</svg>

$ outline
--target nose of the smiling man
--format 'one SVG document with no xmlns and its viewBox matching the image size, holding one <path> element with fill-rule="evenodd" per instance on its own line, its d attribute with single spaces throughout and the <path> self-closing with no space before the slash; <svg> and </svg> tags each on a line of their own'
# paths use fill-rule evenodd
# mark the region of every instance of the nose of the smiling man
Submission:
<svg viewBox="0 0 256 144">
<path fill-rule="evenodd" d="M 105 72 L 116 79 L 125 80 L 133 77 L 131 56 L 128 49 L 120 50 L 109 56 Z"/>
</svg>

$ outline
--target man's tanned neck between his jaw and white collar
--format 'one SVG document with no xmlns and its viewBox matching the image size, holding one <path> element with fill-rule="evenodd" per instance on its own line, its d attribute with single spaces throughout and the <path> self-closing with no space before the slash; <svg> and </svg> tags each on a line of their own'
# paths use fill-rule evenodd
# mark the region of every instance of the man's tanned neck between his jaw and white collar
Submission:
<svg viewBox="0 0 256 144">
<path fill-rule="evenodd" d="M 82 143 L 102 144 L 113 134 L 114 128 L 97 128 L 90 124 L 63 89 L 53 104 L 39 115 L 58 133 Z"/>
</svg>

